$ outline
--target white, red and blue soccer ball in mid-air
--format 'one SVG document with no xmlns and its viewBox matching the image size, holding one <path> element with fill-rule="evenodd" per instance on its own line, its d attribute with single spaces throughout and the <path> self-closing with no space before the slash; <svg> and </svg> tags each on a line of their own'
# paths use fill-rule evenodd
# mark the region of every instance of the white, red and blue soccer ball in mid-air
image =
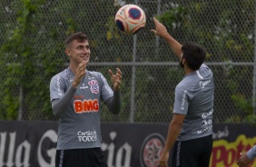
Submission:
<svg viewBox="0 0 256 167">
<path fill-rule="evenodd" d="M 138 5 L 123 5 L 116 15 L 115 24 L 123 34 L 136 34 L 146 24 L 146 15 Z"/>
</svg>

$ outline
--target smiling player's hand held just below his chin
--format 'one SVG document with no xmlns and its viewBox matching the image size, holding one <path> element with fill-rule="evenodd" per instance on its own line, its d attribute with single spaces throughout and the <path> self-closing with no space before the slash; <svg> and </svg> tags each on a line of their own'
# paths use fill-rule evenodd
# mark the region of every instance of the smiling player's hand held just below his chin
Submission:
<svg viewBox="0 0 256 167">
<path fill-rule="evenodd" d="M 81 83 L 82 78 L 85 75 L 85 69 L 87 66 L 88 61 L 83 61 L 80 64 L 78 64 L 78 67 L 76 68 L 75 75 L 74 75 L 74 81 L 72 83 L 73 87 L 76 89 L 79 83 Z"/>
</svg>

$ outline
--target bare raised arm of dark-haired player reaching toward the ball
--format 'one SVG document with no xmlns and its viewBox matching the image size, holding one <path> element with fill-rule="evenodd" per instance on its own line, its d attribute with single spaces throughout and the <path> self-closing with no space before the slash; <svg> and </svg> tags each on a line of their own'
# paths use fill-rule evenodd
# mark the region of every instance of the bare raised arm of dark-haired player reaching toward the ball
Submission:
<svg viewBox="0 0 256 167">
<path fill-rule="evenodd" d="M 153 17 L 153 22 L 155 25 L 155 29 L 151 30 L 153 34 L 161 36 L 163 39 L 165 39 L 167 44 L 169 44 L 170 48 L 172 49 L 172 52 L 176 54 L 180 60 L 182 55 L 182 44 L 176 41 L 172 35 L 167 32 L 166 27 L 162 25 L 162 23 L 160 23 L 155 17 Z"/>
</svg>

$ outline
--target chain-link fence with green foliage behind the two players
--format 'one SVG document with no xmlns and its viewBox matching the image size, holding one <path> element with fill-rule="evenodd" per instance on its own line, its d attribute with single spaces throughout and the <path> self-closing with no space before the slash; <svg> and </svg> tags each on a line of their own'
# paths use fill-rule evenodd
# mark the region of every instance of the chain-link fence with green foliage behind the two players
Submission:
<svg viewBox="0 0 256 167">
<path fill-rule="evenodd" d="M 215 123 L 255 122 L 256 53 L 254 0 L 0 0 L 1 119 L 55 120 L 49 83 L 64 70 L 64 38 L 82 31 L 92 48 L 91 71 L 123 72 L 122 112 L 105 112 L 103 122 L 168 123 L 174 89 L 182 80 L 178 60 L 150 31 L 157 16 L 179 42 L 207 50 L 214 74 Z M 136 35 L 117 30 L 114 15 L 136 4 L 146 15 Z M 51 67 L 51 68 L 50 68 Z M 19 113 L 19 114 L 18 114 Z M 253 114 L 254 113 L 254 114 Z"/>
</svg>

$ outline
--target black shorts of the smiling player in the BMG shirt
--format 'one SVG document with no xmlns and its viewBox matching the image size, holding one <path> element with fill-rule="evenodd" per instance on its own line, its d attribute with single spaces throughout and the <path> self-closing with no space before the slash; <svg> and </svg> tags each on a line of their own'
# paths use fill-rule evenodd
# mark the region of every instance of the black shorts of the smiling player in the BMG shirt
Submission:
<svg viewBox="0 0 256 167">
<path fill-rule="evenodd" d="M 108 167 L 101 148 L 57 150 L 55 167 Z"/>
</svg>

